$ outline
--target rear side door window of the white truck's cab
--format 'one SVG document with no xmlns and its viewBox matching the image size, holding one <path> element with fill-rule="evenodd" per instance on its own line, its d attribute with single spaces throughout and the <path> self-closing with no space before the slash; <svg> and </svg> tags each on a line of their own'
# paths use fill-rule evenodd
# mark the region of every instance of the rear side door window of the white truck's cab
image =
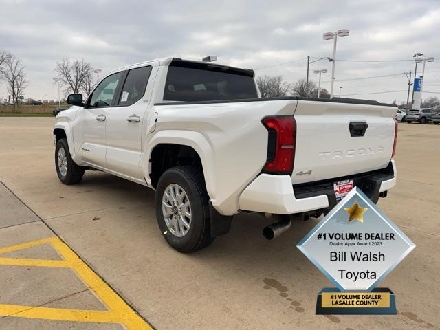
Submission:
<svg viewBox="0 0 440 330">
<path fill-rule="evenodd" d="M 151 67 L 131 69 L 126 76 L 118 105 L 131 105 L 144 96 Z"/>
</svg>

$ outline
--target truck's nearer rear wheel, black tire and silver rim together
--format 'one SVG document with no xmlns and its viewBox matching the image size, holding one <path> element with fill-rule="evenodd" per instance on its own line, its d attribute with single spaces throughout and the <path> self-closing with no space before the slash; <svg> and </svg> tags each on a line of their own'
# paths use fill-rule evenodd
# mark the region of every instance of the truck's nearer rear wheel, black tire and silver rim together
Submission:
<svg viewBox="0 0 440 330">
<path fill-rule="evenodd" d="M 195 166 L 170 168 L 156 189 L 156 219 L 166 242 L 179 252 L 205 248 L 210 236 L 208 193 Z"/>
</svg>

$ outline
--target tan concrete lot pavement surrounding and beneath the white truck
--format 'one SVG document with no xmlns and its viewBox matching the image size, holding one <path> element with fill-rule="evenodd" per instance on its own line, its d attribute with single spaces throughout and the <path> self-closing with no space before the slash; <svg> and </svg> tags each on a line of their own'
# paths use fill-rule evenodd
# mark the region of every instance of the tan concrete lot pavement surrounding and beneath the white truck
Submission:
<svg viewBox="0 0 440 330">
<path fill-rule="evenodd" d="M 0 118 L 0 180 L 50 228 L 30 210 L 12 210 L 20 201 L 0 186 L 0 248 L 60 236 L 157 329 L 439 329 L 435 292 L 440 287 L 436 252 L 440 177 L 435 171 L 440 127 L 399 124 L 398 183 L 379 204 L 417 245 L 382 283 L 395 292 L 399 314 L 316 316 L 316 294 L 330 283 L 295 245 L 318 220 L 296 222 L 270 242 L 261 235 L 267 225 L 263 217 L 239 214 L 229 235 L 217 238 L 206 250 L 180 254 L 162 239 L 154 192 L 148 188 L 91 171 L 76 186 L 58 181 L 53 122 L 53 118 Z M 42 274 L 30 277 L 39 279 L 44 288 Z M 12 270 L 1 272 L 0 279 L 15 281 L 14 285 L 26 280 Z M 72 281 L 65 289 L 56 286 L 55 296 L 78 292 L 80 287 Z M 38 303 L 52 299 L 45 296 L 47 289 L 42 291 Z M 14 289 L 5 293 L 0 294 L 0 304 L 10 297 L 25 301 L 30 295 Z M 79 304 L 90 298 L 78 297 Z M 70 303 L 75 305 L 75 299 Z M 52 327 L 47 322 L 56 321 L 7 317 L 0 318 L 0 328 L 65 327 L 63 322 Z M 69 324 L 79 327 L 72 329 L 89 329 L 81 328 L 86 323 Z"/>
</svg>

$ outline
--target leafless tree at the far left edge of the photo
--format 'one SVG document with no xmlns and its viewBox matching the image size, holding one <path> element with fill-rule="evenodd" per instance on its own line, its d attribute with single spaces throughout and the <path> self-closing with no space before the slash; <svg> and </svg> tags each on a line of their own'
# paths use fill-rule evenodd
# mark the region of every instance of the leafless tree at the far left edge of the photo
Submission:
<svg viewBox="0 0 440 330">
<path fill-rule="evenodd" d="M 0 67 L 0 74 L 6 81 L 8 94 L 12 95 L 12 102 L 14 107 L 19 106 L 20 95 L 28 87 L 28 80 L 26 79 L 25 67 L 21 60 L 14 55 L 9 56 L 4 60 L 2 67 Z"/>
</svg>

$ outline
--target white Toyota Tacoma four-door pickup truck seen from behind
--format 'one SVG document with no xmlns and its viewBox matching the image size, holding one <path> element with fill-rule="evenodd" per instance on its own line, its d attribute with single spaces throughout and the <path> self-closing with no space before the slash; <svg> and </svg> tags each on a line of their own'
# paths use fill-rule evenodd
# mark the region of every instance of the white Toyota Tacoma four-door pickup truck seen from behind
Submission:
<svg viewBox="0 0 440 330">
<path fill-rule="evenodd" d="M 63 184 L 102 170 L 156 191 L 166 241 L 192 252 L 239 212 L 319 217 L 353 186 L 373 201 L 395 186 L 397 108 L 343 98 L 260 98 L 250 69 L 162 58 L 117 69 L 56 116 Z"/>
</svg>

